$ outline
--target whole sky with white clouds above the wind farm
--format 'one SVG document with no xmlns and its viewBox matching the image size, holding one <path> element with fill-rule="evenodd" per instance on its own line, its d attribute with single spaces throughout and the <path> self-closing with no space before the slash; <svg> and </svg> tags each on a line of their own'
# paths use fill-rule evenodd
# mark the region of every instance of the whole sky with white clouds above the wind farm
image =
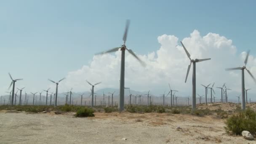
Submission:
<svg viewBox="0 0 256 144">
<path fill-rule="evenodd" d="M 241 72 L 227 67 L 247 67 L 256 76 L 254 48 L 256 10 L 254 0 L 0 0 L 0 94 L 13 78 L 23 78 L 16 88 L 37 92 L 61 81 L 59 92 L 119 88 L 120 51 L 95 53 L 123 44 L 126 19 L 131 20 L 126 46 L 145 63 L 141 67 L 129 53 L 125 57 L 125 87 L 163 93 L 168 83 L 179 96 L 192 92 L 192 70 L 184 83 L 189 59 L 211 58 L 197 63 L 197 93 L 200 85 L 227 83 L 235 97 L 241 93 Z M 245 72 L 248 94 L 256 84 Z M 215 91 L 219 91 L 216 89 Z M 219 92 L 220 93 L 220 92 Z M 216 94 L 219 97 L 218 94 Z M 256 99 L 255 99 L 256 100 Z"/>
</svg>

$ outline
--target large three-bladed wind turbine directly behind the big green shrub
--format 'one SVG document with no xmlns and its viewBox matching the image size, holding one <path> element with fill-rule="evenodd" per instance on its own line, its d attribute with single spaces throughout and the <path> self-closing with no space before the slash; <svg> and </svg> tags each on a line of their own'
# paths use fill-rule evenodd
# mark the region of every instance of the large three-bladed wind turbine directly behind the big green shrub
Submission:
<svg viewBox="0 0 256 144">
<path fill-rule="evenodd" d="M 247 52 L 247 55 L 245 57 L 245 65 L 243 67 L 235 67 L 235 68 L 226 69 L 226 70 L 237 70 L 237 69 L 242 70 L 242 109 L 243 110 L 245 110 L 245 74 L 244 74 L 244 70 L 246 69 L 246 64 L 247 64 L 247 61 L 248 61 L 249 53 L 250 53 L 250 51 Z M 254 82 L 256 82 L 256 79 L 253 77 L 251 72 L 248 69 L 246 69 L 246 71 L 249 73 L 249 75 L 251 75 Z"/>
</svg>

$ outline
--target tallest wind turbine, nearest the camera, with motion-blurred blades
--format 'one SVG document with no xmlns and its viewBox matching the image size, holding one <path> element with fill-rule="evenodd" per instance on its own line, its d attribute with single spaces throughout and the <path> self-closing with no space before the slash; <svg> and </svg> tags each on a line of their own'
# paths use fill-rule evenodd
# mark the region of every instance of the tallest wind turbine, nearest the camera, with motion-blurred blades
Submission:
<svg viewBox="0 0 256 144">
<path fill-rule="evenodd" d="M 143 66 L 145 66 L 145 63 L 139 59 L 138 56 L 133 53 L 131 49 L 126 48 L 125 42 L 127 38 L 128 33 L 128 27 L 129 27 L 130 21 L 126 21 L 126 27 L 125 27 L 125 33 L 123 35 L 123 45 L 121 47 L 113 48 L 109 51 L 104 51 L 102 53 L 98 54 L 104 54 L 104 53 L 111 53 L 118 51 L 121 48 L 122 54 L 121 54 L 121 72 L 120 72 L 120 98 L 119 98 L 119 111 L 122 112 L 124 110 L 124 88 L 125 88 L 125 50 L 127 50 L 131 55 L 133 55 Z"/>
</svg>

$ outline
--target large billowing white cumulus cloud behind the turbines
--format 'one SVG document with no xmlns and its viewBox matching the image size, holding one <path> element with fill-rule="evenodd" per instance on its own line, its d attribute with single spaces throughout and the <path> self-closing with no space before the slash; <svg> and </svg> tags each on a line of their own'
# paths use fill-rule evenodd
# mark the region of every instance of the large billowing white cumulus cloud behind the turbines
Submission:
<svg viewBox="0 0 256 144">
<path fill-rule="evenodd" d="M 240 92 L 241 72 L 224 70 L 228 67 L 243 66 L 245 59 L 246 53 L 237 53 L 232 40 L 215 33 L 201 36 L 197 30 L 194 30 L 190 37 L 180 40 L 174 35 L 166 34 L 157 37 L 157 40 L 161 45 L 157 51 L 138 55 L 147 64 L 145 68 L 141 67 L 130 53 L 125 53 L 125 87 L 136 91 L 151 90 L 159 94 L 168 91 L 168 83 L 170 83 L 172 88 L 179 90 L 178 96 L 191 96 L 192 69 L 187 83 L 184 83 L 190 61 L 179 42 L 182 41 L 192 59 L 211 58 L 209 61 L 196 64 L 197 93 L 204 93 L 204 88 L 200 84 L 208 85 L 213 82 L 216 86 L 227 83 L 229 88 Z M 120 56 L 120 51 L 94 56 L 89 64 L 67 74 L 67 80 L 63 82 L 61 91 L 67 91 L 70 87 L 75 88 L 76 91 L 90 91 L 91 86 L 85 82 L 85 79 L 93 84 L 102 82 L 96 86 L 96 89 L 119 88 Z M 253 56 L 248 59 L 248 68 L 256 76 L 256 59 Z M 245 74 L 245 80 L 246 87 L 254 87 L 255 84 L 248 74 Z M 217 94 L 219 90 L 215 91 Z"/>
</svg>

